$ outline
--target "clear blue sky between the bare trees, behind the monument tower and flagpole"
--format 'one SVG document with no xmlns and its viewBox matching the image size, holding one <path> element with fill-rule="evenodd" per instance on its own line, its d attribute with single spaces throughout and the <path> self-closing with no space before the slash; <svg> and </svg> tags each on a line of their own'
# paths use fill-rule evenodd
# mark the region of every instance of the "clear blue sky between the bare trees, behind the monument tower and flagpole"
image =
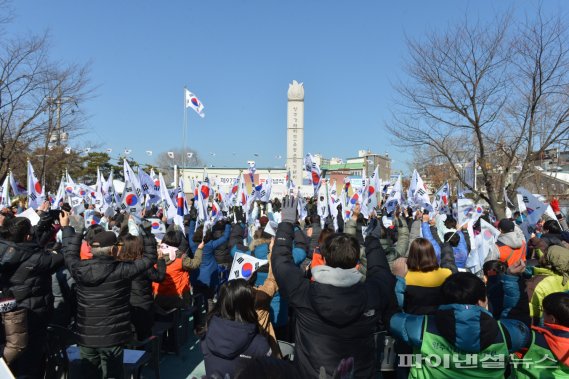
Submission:
<svg viewBox="0 0 569 379">
<path fill-rule="evenodd" d="M 561 0 L 545 12 L 566 11 Z M 305 87 L 305 153 L 409 153 L 383 126 L 403 78 L 406 37 L 444 30 L 465 14 L 535 12 L 535 1 L 14 0 L 12 33 L 49 31 L 52 57 L 91 62 L 95 96 L 80 107 L 88 133 L 76 146 L 133 150 L 182 147 L 183 87 L 205 105 L 189 111 L 187 144 L 215 166 L 282 166 L 286 93 Z M 210 153 L 215 153 L 212 157 Z M 235 153 L 235 155 L 234 155 Z"/>
</svg>

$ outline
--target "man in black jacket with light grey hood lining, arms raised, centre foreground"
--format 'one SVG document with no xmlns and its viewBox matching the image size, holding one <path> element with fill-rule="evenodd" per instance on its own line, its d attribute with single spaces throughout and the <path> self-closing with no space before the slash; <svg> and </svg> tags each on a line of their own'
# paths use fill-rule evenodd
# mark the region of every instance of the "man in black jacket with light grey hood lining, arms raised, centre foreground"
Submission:
<svg viewBox="0 0 569 379">
<path fill-rule="evenodd" d="M 292 260 L 296 201 L 285 201 L 271 265 L 279 290 L 295 308 L 295 365 L 299 377 L 318 378 L 321 367 L 331 376 L 344 358 L 353 357 L 356 378 L 370 378 L 375 370 L 373 334 L 382 313 L 394 302 L 395 278 L 379 240 L 365 241 L 367 277 L 356 265 L 358 241 L 346 234 L 328 238 L 325 265 L 313 269 L 314 282 L 304 279 Z"/>
</svg>

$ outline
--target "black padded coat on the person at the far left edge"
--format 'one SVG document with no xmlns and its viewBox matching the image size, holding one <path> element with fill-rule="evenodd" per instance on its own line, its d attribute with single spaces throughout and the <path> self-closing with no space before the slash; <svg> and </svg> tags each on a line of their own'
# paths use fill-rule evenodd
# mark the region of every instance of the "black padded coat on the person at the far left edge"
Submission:
<svg viewBox="0 0 569 379">
<path fill-rule="evenodd" d="M 46 252 L 35 242 L 0 240 L 1 289 L 19 307 L 49 320 L 53 310 L 51 274 L 63 266 L 63 255 Z"/>
</svg>

